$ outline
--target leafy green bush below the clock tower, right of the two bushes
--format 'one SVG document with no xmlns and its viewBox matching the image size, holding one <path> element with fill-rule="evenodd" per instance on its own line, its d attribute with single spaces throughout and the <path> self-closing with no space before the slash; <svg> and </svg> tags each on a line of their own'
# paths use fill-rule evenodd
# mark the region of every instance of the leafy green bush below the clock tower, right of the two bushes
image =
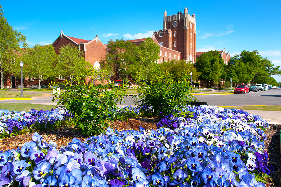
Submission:
<svg viewBox="0 0 281 187">
<path fill-rule="evenodd" d="M 175 83 L 172 75 L 166 71 L 158 77 L 157 82 L 150 81 L 147 85 L 140 83 L 138 92 L 134 102 L 145 116 L 162 117 L 171 113 L 176 116 L 177 111 L 195 101 L 187 72 Z M 149 107 L 152 107 L 152 112 L 146 110 Z"/>
</svg>

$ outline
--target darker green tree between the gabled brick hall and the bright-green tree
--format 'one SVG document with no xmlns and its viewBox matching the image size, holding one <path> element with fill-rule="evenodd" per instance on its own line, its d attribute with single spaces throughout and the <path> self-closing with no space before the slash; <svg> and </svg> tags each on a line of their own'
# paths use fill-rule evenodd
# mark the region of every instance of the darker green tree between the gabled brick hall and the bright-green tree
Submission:
<svg viewBox="0 0 281 187">
<path fill-rule="evenodd" d="M 111 70 L 117 79 L 127 75 L 128 65 L 136 62 L 136 44 L 123 39 L 108 41 L 106 56 L 101 60 L 101 68 Z"/>
</svg>

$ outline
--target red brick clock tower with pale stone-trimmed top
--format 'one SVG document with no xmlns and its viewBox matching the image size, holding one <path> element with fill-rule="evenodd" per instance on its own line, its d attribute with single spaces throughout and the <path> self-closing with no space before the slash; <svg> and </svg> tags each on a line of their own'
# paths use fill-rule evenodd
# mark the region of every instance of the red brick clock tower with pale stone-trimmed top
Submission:
<svg viewBox="0 0 281 187">
<path fill-rule="evenodd" d="M 155 31 L 154 37 L 160 45 L 180 52 L 180 59 L 195 62 L 196 22 L 195 14 L 184 13 L 167 16 L 164 12 L 163 30 Z"/>
</svg>

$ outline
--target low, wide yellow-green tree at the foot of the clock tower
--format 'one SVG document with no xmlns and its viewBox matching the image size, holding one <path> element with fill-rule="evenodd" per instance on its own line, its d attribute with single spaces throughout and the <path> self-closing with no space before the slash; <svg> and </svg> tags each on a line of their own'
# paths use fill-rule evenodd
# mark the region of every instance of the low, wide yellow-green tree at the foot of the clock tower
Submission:
<svg viewBox="0 0 281 187">
<path fill-rule="evenodd" d="M 163 72 L 168 71 L 172 74 L 173 79 L 178 82 L 185 75 L 185 72 L 192 72 L 192 79 L 196 80 L 199 76 L 199 72 L 196 70 L 192 62 L 186 62 L 185 60 L 168 60 L 160 64 Z"/>
</svg>

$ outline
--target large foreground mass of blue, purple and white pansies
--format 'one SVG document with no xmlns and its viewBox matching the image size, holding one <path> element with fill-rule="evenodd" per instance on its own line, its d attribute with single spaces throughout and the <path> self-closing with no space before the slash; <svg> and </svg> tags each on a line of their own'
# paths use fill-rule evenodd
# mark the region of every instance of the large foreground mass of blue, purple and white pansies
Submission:
<svg viewBox="0 0 281 187">
<path fill-rule="evenodd" d="M 60 150 L 35 133 L 22 148 L 1 151 L 0 185 L 265 186 L 257 181 L 272 170 L 264 119 L 211 106 L 186 111 L 194 117 L 166 116 L 157 131 L 108 128 Z"/>
</svg>

